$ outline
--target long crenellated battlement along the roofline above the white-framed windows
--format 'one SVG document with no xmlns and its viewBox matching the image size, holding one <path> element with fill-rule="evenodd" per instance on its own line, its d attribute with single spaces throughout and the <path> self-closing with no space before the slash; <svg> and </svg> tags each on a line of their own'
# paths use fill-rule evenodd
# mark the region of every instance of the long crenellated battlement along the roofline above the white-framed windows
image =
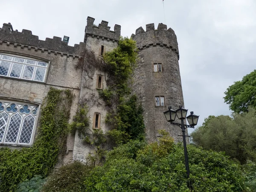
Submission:
<svg viewBox="0 0 256 192">
<path fill-rule="evenodd" d="M 4 23 L 3 28 L 0 28 L 0 41 L 63 52 L 70 55 L 79 55 L 84 47 L 83 42 L 75 44 L 74 47 L 68 46 L 60 37 L 55 36 L 53 38 L 46 38 L 45 41 L 39 40 L 37 35 L 32 35 L 32 31 L 26 29 L 22 29 L 22 32 L 10 31 L 8 29 L 10 26 L 12 27 L 12 25 Z"/>
</svg>

